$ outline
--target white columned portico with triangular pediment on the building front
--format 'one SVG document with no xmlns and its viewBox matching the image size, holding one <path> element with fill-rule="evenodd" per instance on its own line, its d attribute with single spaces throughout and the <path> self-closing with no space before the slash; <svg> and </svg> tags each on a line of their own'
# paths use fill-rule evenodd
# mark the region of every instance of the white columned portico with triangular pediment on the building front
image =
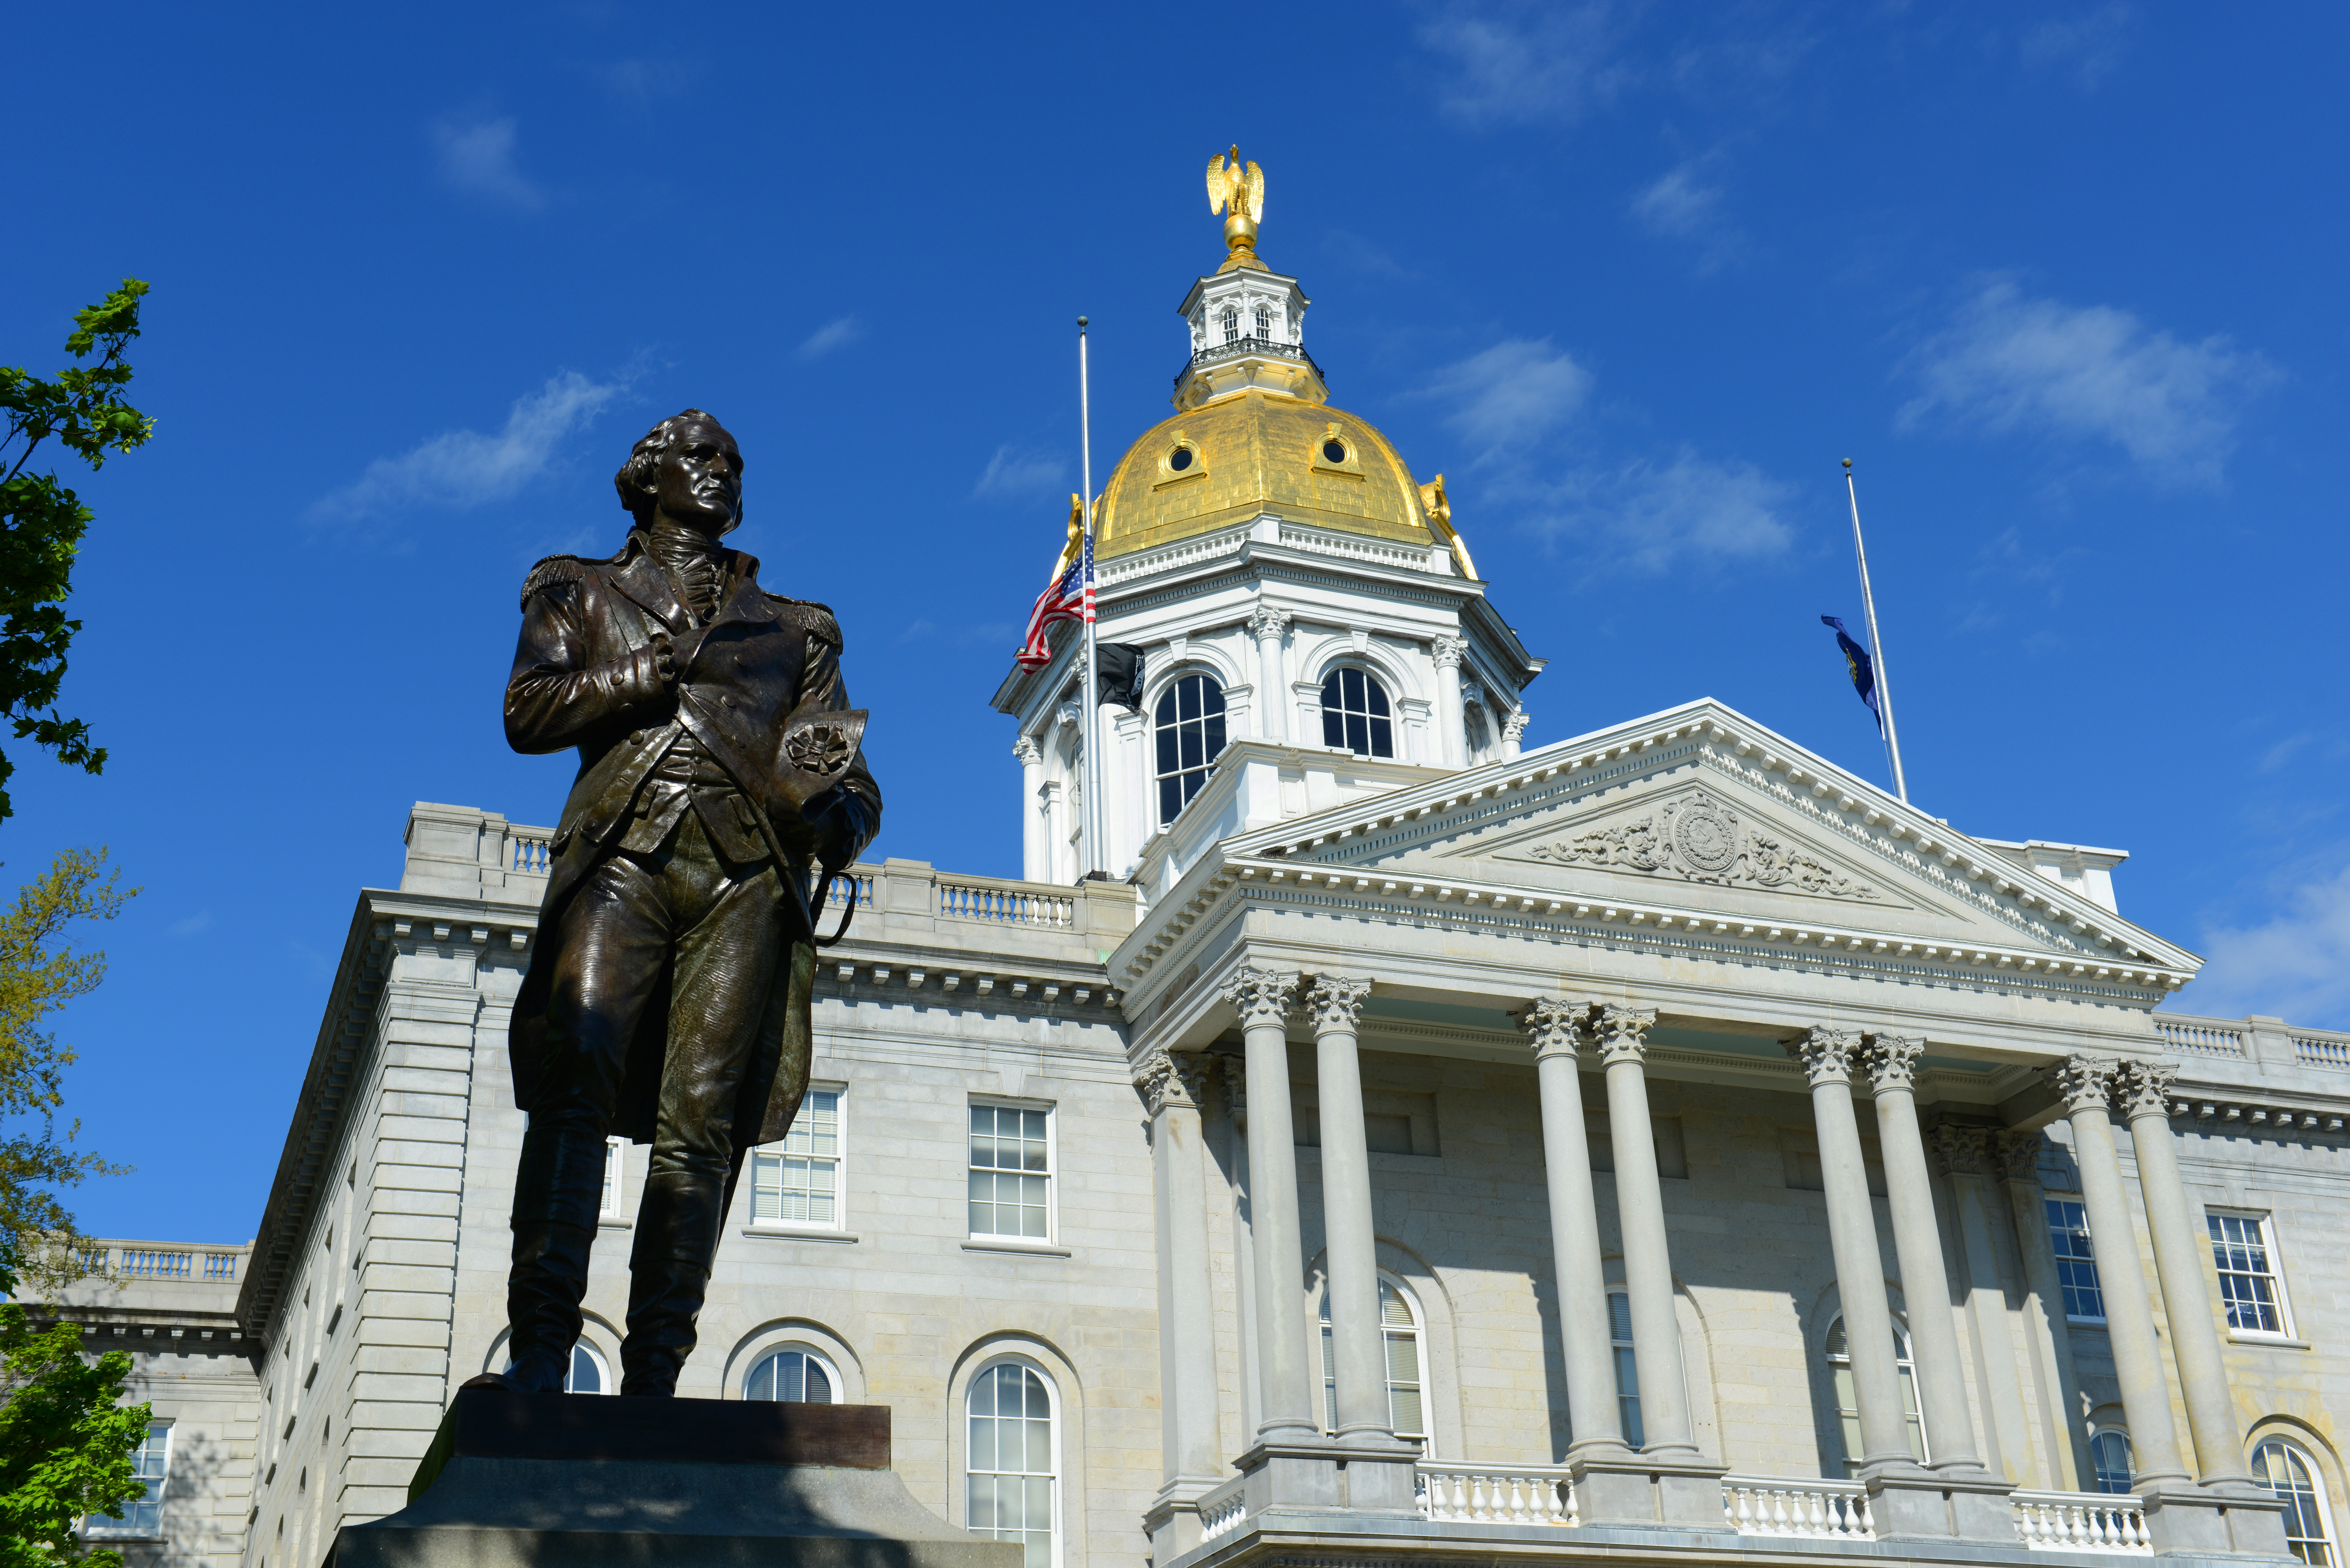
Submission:
<svg viewBox="0 0 2350 1568">
<path fill-rule="evenodd" d="M 1194 813 L 1231 820 L 1217 792 L 1250 788 L 1250 745 Z M 2148 1013 L 2190 954 L 1718 703 L 1220 842 L 1180 827 L 1152 846 L 1163 891 L 1109 971 L 1140 1070 L 1246 1065 L 1246 1098 L 1208 1105 L 1196 1145 L 1210 1215 L 1243 1215 L 1227 1234 L 1246 1232 L 1250 1288 L 1208 1293 L 1236 1354 L 1210 1389 L 1177 1352 L 1163 1396 L 1170 1429 L 1255 1420 L 1220 1453 L 1238 1481 L 1168 1476 L 1161 1563 L 1238 1561 L 1332 1519 L 1382 1535 L 1535 1528 L 1567 1549 L 1732 1542 L 1793 1516 L 1817 1540 L 2007 1552 L 2047 1516 L 2134 1549 L 2280 1549 L 2218 1415 L 2176 1164 L 2141 1152 L 2136 1166 L 2157 1288 L 2167 1302 L 2176 1288 L 2186 1324 L 2169 1356 L 2127 1284 L 2136 1248 L 2113 1248 L 2113 1291 L 2134 1302 L 2115 1361 L 2148 1481 L 2127 1505 L 2073 1495 L 2077 1436 L 2035 1415 L 2068 1399 L 2047 1387 L 2063 1314 L 2030 1293 L 2009 1309 L 1995 1260 L 2040 1272 L 2044 1227 L 1960 1192 L 1981 1168 L 1974 1143 L 2012 1159 L 2068 1117 L 2096 1234 L 2138 1234 L 2106 1117 L 2141 1107 L 2160 1128 Z M 1516 1095 L 1528 1140 L 1370 1150 L 1372 1103 L 1415 1093 L 1401 1084 L 1429 1084 L 1417 1093 L 1448 1135 L 1448 1098 L 1471 1084 Z M 1307 1091 L 1311 1119 L 1292 1112 Z M 1748 1147 L 1718 1138 L 1694 1168 L 1699 1119 L 1739 1117 Z M 1217 1124 L 1246 1161 L 1210 1154 Z M 1755 1180 L 1767 1133 L 1772 1194 Z M 1929 1147 L 1960 1154 L 1936 1164 Z M 1753 1171 L 1720 1168 L 1737 1159 Z M 1518 1220 L 1431 1232 L 1455 1173 Z M 1168 1267 L 1215 1279 L 1215 1225 L 1189 1246 Z M 1485 1380 L 1462 1378 L 1452 1429 L 1386 1420 L 1382 1274 L 1431 1298 L 1422 1335 L 1443 1312 L 1452 1354 L 1476 1352 Z M 1309 1279 L 1328 1291 L 1321 1380 Z M 1723 1359 L 1744 1359 L 1748 1385 L 1772 1359 L 1795 1385 L 1833 1385 L 1835 1441 L 1788 1446 L 1772 1439 L 1784 1413 L 1725 1406 Z M 2195 1472 L 2167 1458 L 2174 1366 L 2190 1425 L 2204 1410 L 2195 1443 L 2211 1460 Z M 1525 1387 L 1539 1422 L 1509 1403 Z M 1819 1389 L 1788 1392 L 1812 1406 Z"/>
</svg>

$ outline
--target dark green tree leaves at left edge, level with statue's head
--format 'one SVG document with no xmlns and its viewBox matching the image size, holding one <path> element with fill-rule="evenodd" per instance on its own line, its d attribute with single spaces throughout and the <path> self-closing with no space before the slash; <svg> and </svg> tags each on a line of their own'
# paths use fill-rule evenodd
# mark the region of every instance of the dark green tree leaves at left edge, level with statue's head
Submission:
<svg viewBox="0 0 2350 1568">
<path fill-rule="evenodd" d="M 66 597 L 94 512 L 54 473 L 26 465 L 56 437 L 96 473 L 108 454 L 143 447 L 155 433 L 155 421 L 122 397 L 132 381 L 122 355 L 139 336 L 146 292 L 143 282 L 125 277 L 120 289 L 73 313 L 66 353 L 96 355 L 94 364 L 70 364 L 56 381 L 0 364 L 0 414 L 7 416 L 7 435 L 0 435 L 0 717 L 19 741 L 31 738 L 89 773 L 106 766 L 106 748 L 92 743 L 82 719 L 56 710 L 56 693 L 66 649 L 82 630 L 66 618 Z M 0 755 L 0 818 L 14 816 L 5 788 L 14 771 L 16 764 Z"/>
</svg>

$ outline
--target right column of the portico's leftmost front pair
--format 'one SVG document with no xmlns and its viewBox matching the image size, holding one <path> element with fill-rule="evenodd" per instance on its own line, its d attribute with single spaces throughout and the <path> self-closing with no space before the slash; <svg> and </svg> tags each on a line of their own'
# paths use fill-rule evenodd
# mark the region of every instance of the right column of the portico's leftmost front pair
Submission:
<svg viewBox="0 0 2350 1568">
<path fill-rule="evenodd" d="M 1354 1030 L 1370 980 L 1318 976 L 1307 992 L 1321 1086 L 1323 1232 L 1330 1258 L 1330 1366 L 1337 1436 L 1389 1446 L 1386 1340 L 1379 1333 L 1379 1258 L 1370 1225 L 1370 1147 L 1363 1138 L 1363 1070 Z"/>
</svg>

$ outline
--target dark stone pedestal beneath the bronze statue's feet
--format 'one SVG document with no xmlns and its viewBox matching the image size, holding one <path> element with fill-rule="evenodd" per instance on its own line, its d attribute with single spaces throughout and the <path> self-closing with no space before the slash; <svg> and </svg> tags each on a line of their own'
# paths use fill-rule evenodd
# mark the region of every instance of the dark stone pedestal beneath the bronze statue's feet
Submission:
<svg viewBox="0 0 2350 1568">
<path fill-rule="evenodd" d="M 1020 1568 L 888 1467 L 886 1406 L 458 1389 L 409 1507 L 327 1568 Z"/>
</svg>

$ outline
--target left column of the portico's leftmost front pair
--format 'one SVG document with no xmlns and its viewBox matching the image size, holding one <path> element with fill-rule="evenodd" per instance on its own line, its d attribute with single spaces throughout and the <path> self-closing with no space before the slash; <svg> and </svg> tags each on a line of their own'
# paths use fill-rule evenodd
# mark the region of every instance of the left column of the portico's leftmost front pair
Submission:
<svg viewBox="0 0 2350 1568">
<path fill-rule="evenodd" d="M 1297 1133 L 1290 1121 L 1290 997 L 1297 973 L 1238 969 L 1224 1001 L 1241 1016 L 1248 1051 L 1248 1218 L 1257 1265 L 1257 1436 L 1318 1436 L 1307 1378 L 1302 1227 L 1297 1220 Z"/>
</svg>

